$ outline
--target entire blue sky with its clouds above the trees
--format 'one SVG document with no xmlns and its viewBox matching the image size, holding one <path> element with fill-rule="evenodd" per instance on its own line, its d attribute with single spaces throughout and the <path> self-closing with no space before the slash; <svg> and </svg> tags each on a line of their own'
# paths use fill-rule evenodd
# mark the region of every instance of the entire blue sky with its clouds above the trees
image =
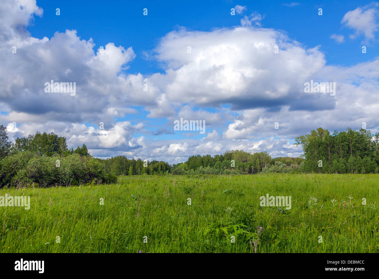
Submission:
<svg viewBox="0 0 379 279">
<path fill-rule="evenodd" d="M 318 127 L 379 132 L 378 26 L 370 1 L 2 0 L 0 124 L 103 159 L 300 156 Z"/>
</svg>

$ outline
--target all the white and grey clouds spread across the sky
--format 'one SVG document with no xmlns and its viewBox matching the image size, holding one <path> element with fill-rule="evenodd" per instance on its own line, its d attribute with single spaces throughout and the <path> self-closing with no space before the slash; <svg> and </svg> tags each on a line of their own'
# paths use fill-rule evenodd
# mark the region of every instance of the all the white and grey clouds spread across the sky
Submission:
<svg viewBox="0 0 379 279">
<path fill-rule="evenodd" d="M 258 13 L 237 27 L 167 33 L 149 52 L 164 73 L 144 75 L 128 73 L 136 57 L 132 46 L 108 43 L 95 49 L 93 40 L 81 39 L 76 30 L 33 38 L 26 27 L 33 15 L 42 16 L 42 9 L 32 0 L 3 3 L 0 121 L 12 140 L 36 131 L 55 132 L 67 138 L 69 147 L 86 143 L 99 158 L 124 154 L 177 163 L 193 154 L 233 149 L 299 156 L 301 148 L 292 139 L 319 126 L 359 129 L 364 121 L 378 131 L 378 59 L 327 66 L 319 46 L 306 47 L 284 32 L 260 27 L 264 17 Z M 373 39 L 374 8 L 350 11 L 343 23 Z M 45 93 L 44 83 L 52 79 L 76 82 L 77 94 Z M 304 83 L 311 80 L 336 82 L 335 96 L 305 93 Z M 147 111 L 144 119 L 136 107 Z M 128 115 L 135 119 L 117 120 Z M 167 122 L 150 131 L 154 118 Z M 180 118 L 205 120 L 206 136 L 189 133 L 193 137 L 183 139 L 178 131 L 175 138 L 149 138 L 171 134 L 173 121 Z"/>
</svg>

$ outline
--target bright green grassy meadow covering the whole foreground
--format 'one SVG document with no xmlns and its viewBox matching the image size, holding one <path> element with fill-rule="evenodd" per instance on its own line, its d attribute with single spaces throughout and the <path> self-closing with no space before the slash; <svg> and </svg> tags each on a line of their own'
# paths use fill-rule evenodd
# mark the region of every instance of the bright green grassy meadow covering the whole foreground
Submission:
<svg viewBox="0 0 379 279">
<path fill-rule="evenodd" d="M 377 253 L 378 178 L 141 175 L 110 185 L 0 189 L 30 196 L 29 210 L 0 207 L 0 251 L 254 253 L 249 242 L 263 227 L 257 253 Z M 291 209 L 261 207 L 266 194 L 291 196 Z"/>
</svg>

